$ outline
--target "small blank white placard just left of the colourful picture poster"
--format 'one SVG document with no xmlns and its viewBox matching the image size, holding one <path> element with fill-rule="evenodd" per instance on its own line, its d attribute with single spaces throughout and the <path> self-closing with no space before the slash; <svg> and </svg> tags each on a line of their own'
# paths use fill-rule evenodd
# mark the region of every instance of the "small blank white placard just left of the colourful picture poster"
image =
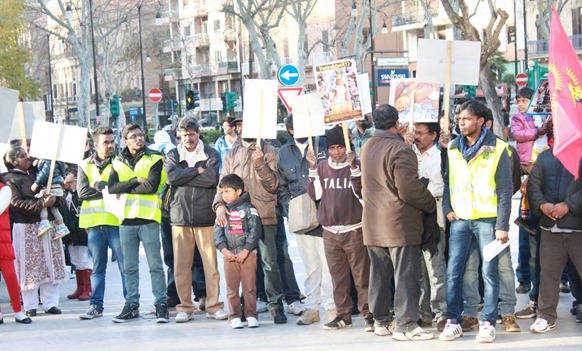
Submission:
<svg viewBox="0 0 582 351">
<path fill-rule="evenodd" d="M 323 106 L 317 93 L 299 95 L 293 101 L 293 137 L 325 135 Z"/>
</svg>

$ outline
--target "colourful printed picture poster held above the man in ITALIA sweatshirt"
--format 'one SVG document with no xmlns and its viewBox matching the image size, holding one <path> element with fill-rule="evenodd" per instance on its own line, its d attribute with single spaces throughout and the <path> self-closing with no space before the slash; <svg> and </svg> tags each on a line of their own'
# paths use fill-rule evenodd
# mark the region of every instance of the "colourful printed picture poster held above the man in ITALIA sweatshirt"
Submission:
<svg viewBox="0 0 582 351">
<path fill-rule="evenodd" d="M 364 118 L 354 60 L 334 61 L 317 65 L 314 69 L 317 93 L 324 107 L 325 123 Z"/>
</svg>

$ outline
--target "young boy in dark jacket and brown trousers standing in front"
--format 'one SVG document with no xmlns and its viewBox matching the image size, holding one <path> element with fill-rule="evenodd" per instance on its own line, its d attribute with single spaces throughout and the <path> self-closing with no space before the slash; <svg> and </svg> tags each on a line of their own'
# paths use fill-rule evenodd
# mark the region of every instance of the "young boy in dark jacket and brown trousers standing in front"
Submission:
<svg viewBox="0 0 582 351">
<path fill-rule="evenodd" d="M 241 303 L 238 293 L 242 283 L 245 296 L 244 314 L 249 328 L 257 328 L 256 272 L 257 245 L 261 238 L 261 220 L 245 192 L 243 180 L 229 174 L 218 185 L 226 203 L 227 225 L 214 225 L 214 243 L 224 256 L 224 275 L 228 298 L 228 320 L 233 329 L 243 328 Z"/>
</svg>

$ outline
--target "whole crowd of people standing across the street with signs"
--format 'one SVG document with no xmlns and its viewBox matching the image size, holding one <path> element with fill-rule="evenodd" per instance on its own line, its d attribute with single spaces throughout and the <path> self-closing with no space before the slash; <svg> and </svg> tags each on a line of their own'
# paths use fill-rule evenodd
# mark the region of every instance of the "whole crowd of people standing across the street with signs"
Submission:
<svg viewBox="0 0 582 351">
<path fill-rule="evenodd" d="M 285 145 L 243 139 L 242 119 L 228 118 L 214 148 L 185 117 L 175 135 L 158 131 L 150 145 L 139 125 L 126 125 L 117 152 L 113 131 L 100 126 L 90 136 L 94 149 L 88 136 L 84 161 L 60 165 L 53 187 L 14 146 L 0 182 L 0 268 L 16 322 L 32 321 L 39 293 L 45 313 L 61 313 L 63 242 L 77 279 L 67 297 L 89 300 L 81 319 L 103 316 L 109 249 L 125 298 L 113 322 L 140 317 L 141 243 L 157 323 L 169 322 L 173 307 L 175 322 L 187 323 L 197 301 L 208 318 L 228 319 L 234 329 L 245 321 L 259 327 L 258 313 L 267 310 L 274 324 L 293 314 L 302 326 L 323 319 L 326 330 L 351 327 L 361 313 L 364 330 L 378 336 L 429 340 L 436 323 L 440 340 L 478 329 L 477 342 L 488 343 L 498 323 L 521 331 L 516 318 L 537 317 L 534 333 L 555 329 L 566 265 L 582 322 L 582 180 L 552 154 L 551 118 L 536 126 L 525 115 L 528 99 L 531 92 L 520 90 L 517 150 L 493 134 L 492 112 L 476 100 L 458 106 L 450 130 L 436 122 L 399 126 L 398 111 L 381 105 L 355 124 L 353 146 L 337 126 L 310 147 L 293 138 L 292 115 Z M 536 143 L 545 150 L 535 151 Z M 516 288 L 509 247 L 485 252 L 508 242 L 511 198 L 520 190 Z M 108 211 L 110 201 L 123 201 L 123 218 Z M 284 218 L 305 268 L 303 292 Z M 516 293 L 530 289 L 531 302 L 516 313 Z"/>
</svg>

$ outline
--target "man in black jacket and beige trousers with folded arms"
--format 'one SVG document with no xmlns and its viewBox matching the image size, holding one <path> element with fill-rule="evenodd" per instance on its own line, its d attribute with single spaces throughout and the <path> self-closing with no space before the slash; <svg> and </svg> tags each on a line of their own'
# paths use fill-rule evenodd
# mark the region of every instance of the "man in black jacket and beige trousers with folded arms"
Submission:
<svg viewBox="0 0 582 351">
<path fill-rule="evenodd" d="M 174 280 L 180 297 L 176 306 L 177 323 L 192 319 L 192 262 L 198 247 L 205 270 L 206 316 L 226 319 L 220 295 L 220 273 L 214 245 L 212 201 L 218 185 L 220 155 L 199 137 L 200 127 L 193 118 L 183 118 L 178 125 L 180 144 L 164 161 L 174 197 L 170 204 L 172 242 L 174 246 Z"/>
</svg>

